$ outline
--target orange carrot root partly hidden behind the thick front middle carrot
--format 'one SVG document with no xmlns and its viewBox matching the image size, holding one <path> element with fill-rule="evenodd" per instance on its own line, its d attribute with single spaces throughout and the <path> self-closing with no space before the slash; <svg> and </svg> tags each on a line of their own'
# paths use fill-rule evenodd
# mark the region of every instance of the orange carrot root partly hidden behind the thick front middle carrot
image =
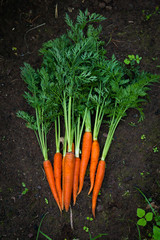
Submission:
<svg viewBox="0 0 160 240">
<path fill-rule="evenodd" d="M 73 178 L 73 204 L 74 205 L 76 203 L 77 192 L 78 192 L 79 169 L 80 169 L 80 158 L 75 157 L 74 178 Z"/>
</svg>

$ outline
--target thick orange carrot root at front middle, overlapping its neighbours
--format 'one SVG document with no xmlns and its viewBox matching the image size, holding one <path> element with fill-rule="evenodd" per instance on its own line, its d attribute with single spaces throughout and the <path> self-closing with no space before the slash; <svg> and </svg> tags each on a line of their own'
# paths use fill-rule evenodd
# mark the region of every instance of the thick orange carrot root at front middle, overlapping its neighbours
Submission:
<svg viewBox="0 0 160 240">
<path fill-rule="evenodd" d="M 64 162 L 64 206 L 68 212 L 73 189 L 75 157 L 74 153 L 67 152 Z"/>
</svg>

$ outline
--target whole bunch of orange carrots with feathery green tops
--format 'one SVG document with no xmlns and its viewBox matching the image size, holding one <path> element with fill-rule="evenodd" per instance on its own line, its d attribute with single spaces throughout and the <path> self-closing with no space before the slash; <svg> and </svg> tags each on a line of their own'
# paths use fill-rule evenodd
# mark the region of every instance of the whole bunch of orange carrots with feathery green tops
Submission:
<svg viewBox="0 0 160 240">
<path fill-rule="evenodd" d="M 92 25 L 105 20 L 103 16 L 89 15 L 86 10 L 79 12 L 75 24 L 68 15 L 65 20 L 69 26 L 67 33 L 44 43 L 40 49 L 41 68 L 34 70 L 27 63 L 22 68 L 22 78 L 29 90 L 24 97 L 35 114 L 19 111 L 17 115 L 35 132 L 44 157 L 46 177 L 60 211 L 69 210 L 72 198 L 75 205 L 90 165 L 88 194 L 93 191 L 92 214 L 95 217 L 114 132 L 129 108 L 136 108 L 143 118 L 140 104 L 149 89 L 147 86 L 159 76 L 140 73 L 137 69 L 133 74 L 133 69 L 129 70 L 115 56 L 107 59 L 104 42 L 99 38 L 101 26 Z M 98 136 L 104 117 L 108 134 L 104 147 L 100 148 Z M 60 148 L 62 123 L 65 126 L 63 153 Z M 56 153 L 51 163 L 47 134 L 53 125 Z"/>
</svg>

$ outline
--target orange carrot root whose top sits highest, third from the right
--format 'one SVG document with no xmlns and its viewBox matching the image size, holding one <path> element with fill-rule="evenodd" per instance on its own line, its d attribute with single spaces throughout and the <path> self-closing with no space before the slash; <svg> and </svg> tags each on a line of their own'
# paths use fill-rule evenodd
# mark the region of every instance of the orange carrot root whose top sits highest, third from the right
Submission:
<svg viewBox="0 0 160 240">
<path fill-rule="evenodd" d="M 81 156 L 80 173 L 79 173 L 78 194 L 80 194 L 83 188 L 84 177 L 85 177 L 87 165 L 88 165 L 90 154 L 91 154 L 91 147 L 92 147 L 92 133 L 85 132 L 83 135 L 83 141 L 82 141 L 82 156 Z"/>
</svg>

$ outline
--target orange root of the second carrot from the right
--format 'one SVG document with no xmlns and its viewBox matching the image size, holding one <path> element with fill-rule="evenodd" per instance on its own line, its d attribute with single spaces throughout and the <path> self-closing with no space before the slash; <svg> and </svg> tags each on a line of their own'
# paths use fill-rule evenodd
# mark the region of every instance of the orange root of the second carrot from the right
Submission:
<svg viewBox="0 0 160 240">
<path fill-rule="evenodd" d="M 92 143 L 92 150 L 91 150 L 91 161 L 90 161 L 90 182 L 91 186 L 88 192 L 88 195 L 91 193 L 93 186 L 94 186 L 94 179 L 95 179 L 95 172 L 98 164 L 100 148 L 99 143 L 97 140 L 94 140 Z"/>
</svg>

